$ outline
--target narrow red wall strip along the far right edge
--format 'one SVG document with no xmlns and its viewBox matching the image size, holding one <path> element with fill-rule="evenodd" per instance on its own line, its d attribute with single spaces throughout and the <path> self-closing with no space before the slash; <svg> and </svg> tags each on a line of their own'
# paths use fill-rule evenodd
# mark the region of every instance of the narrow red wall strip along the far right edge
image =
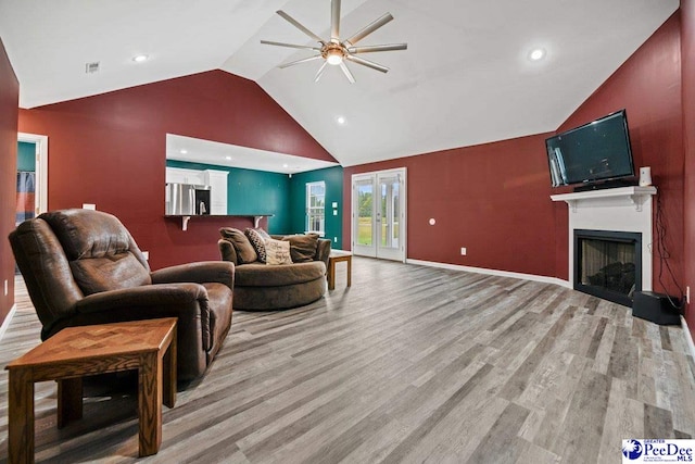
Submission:
<svg viewBox="0 0 695 464">
<path fill-rule="evenodd" d="M 695 0 L 681 0 L 681 72 L 685 153 L 684 281 L 695 291 Z M 695 314 L 690 306 L 685 319 L 695 335 Z"/>
</svg>

